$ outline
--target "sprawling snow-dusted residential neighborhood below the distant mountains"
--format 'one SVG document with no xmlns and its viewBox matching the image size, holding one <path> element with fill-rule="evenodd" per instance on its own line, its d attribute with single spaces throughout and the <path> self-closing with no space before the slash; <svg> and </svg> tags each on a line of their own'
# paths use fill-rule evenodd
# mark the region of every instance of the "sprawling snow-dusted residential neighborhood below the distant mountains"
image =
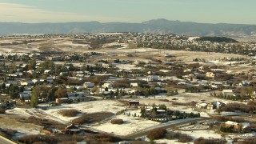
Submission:
<svg viewBox="0 0 256 144">
<path fill-rule="evenodd" d="M 1 37 L 0 46 L 0 123 L 2 133 L 14 130 L 14 141 L 32 134 L 63 134 L 70 141 L 76 135 L 85 142 L 100 136 L 111 142 L 182 141 L 148 136 L 158 129 L 186 134 L 182 142 L 255 136 L 254 42 L 42 34 Z"/>
</svg>

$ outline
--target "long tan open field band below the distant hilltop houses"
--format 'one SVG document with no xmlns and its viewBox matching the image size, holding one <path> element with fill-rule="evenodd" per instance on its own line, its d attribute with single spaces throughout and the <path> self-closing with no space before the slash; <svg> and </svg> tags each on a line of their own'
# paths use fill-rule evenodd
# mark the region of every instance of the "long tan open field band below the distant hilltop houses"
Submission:
<svg viewBox="0 0 256 144">
<path fill-rule="evenodd" d="M 14 43 L 19 42 L 24 39 L 4 39 L 0 40 L 0 43 Z M 49 51 L 57 50 L 69 53 L 86 53 L 86 52 L 98 52 L 102 53 L 102 56 L 91 58 L 90 61 L 93 62 L 99 58 L 119 58 L 120 60 L 131 60 L 134 58 L 138 61 L 152 62 L 153 59 L 161 60 L 162 62 L 174 61 L 176 63 L 194 63 L 194 58 L 203 58 L 206 62 L 199 62 L 202 66 L 223 66 L 224 70 L 228 73 L 239 73 L 242 71 L 253 70 L 252 66 L 248 65 L 238 65 L 230 66 L 230 62 L 220 62 L 222 58 L 246 58 L 246 56 L 238 54 L 221 54 L 221 53 L 206 53 L 206 52 L 196 52 L 196 51 L 182 51 L 182 50 L 161 50 L 161 53 L 157 49 L 151 48 L 124 48 L 124 49 L 96 49 L 89 50 L 87 44 L 77 44 L 73 42 L 72 38 L 42 38 L 35 39 L 36 42 L 31 42 L 28 44 L 15 44 L 10 46 L 0 46 L 0 51 L 2 52 L 31 52 L 31 51 Z M 108 45 L 108 44 L 106 44 Z M 111 43 L 109 44 L 111 45 Z M 126 46 L 125 43 L 122 44 Z M 132 57 L 128 56 L 118 56 L 118 54 L 131 54 Z M 172 54 L 173 58 L 166 58 L 164 54 Z"/>
</svg>

